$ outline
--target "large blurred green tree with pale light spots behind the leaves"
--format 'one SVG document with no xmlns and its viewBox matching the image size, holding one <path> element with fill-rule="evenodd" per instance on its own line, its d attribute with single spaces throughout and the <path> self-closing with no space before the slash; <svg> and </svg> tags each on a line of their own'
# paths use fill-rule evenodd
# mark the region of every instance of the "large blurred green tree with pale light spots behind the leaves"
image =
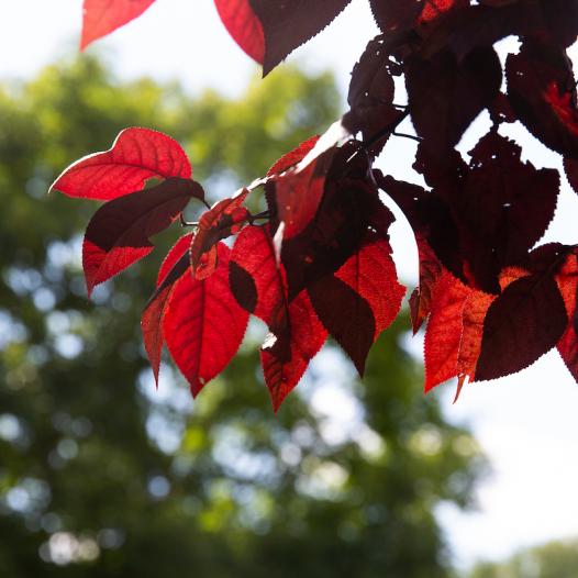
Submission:
<svg viewBox="0 0 578 578">
<path fill-rule="evenodd" d="M 451 575 L 434 509 L 466 505 L 483 460 L 422 396 L 405 319 L 363 384 L 330 346 L 277 416 L 258 325 L 194 403 L 170 364 L 155 391 L 140 312 L 179 227 L 90 302 L 79 257 L 96 204 L 46 196 L 130 125 L 174 135 L 209 193 L 231 193 L 337 103 L 331 76 L 290 67 L 237 100 L 191 99 L 88 57 L 0 88 L 1 577 Z"/>
</svg>

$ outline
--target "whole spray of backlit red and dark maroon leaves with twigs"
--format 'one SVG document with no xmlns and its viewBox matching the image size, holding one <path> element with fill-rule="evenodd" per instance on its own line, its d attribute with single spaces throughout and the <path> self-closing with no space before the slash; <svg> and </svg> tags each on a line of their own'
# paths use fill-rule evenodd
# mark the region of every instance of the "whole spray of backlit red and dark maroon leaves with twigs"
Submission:
<svg viewBox="0 0 578 578">
<path fill-rule="evenodd" d="M 114 2 L 99 20 L 109 23 L 103 31 L 91 20 L 100 3 L 86 0 L 84 45 L 151 3 Z M 348 3 L 215 0 L 231 35 L 264 74 Z M 275 409 L 329 334 L 363 374 L 404 294 L 385 192 L 419 248 L 420 282 L 410 304 L 414 331 L 427 320 L 426 391 L 457 376 L 459 393 L 467 380 L 519 371 L 554 347 L 578 379 L 577 249 L 536 247 L 554 216 L 560 176 L 522 160 L 520 145 L 502 134 L 504 124 L 522 123 L 564 158 L 578 186 L 576 80 L 566 52 L 578 35 L 578 2 L 369 3 L 381 32 L 352 73 L 349 110 L 320 138 L 209 208 L 167 257 L 143 315 L 155 373 L 166 342 L 197 393 L 226 366 L 253 314 L 269 327 L 262 364 Z M 502 65 L 494 45 L 509 36 L 521 47 Z M 483 111 L 491 126 L 466 159 L 456 146 Z M 409 121 L 419 141 L 413 168 L 424 187 L 374 167 Z M 166 180 L 142 190 L 151 177 Z M 66 169 L 54 188 L 108 200 L 85 238 L 89 290 L 148 254 L 149 237 L 182 220 L 189 200 L 203 201 L 178 144 L 142 129 Z M 259 189 L 267 207 L 252 213 L 245 203 Z M 232 235 L 230 249 L 223 240 Z"/>
</svg>

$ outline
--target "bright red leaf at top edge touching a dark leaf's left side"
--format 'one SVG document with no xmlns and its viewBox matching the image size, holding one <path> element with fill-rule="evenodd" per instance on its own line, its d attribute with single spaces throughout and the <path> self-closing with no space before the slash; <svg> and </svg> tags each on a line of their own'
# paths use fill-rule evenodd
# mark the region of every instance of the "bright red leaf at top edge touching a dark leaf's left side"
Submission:
<svg viewBox="0 0 578 578">
<path fill-rule="evenodd" d="M 214 0 L 214 3 L 229 34 L 248 56 L 263 64 L 263 26 L 251 8 L 249 0 Z"/>
</svg>

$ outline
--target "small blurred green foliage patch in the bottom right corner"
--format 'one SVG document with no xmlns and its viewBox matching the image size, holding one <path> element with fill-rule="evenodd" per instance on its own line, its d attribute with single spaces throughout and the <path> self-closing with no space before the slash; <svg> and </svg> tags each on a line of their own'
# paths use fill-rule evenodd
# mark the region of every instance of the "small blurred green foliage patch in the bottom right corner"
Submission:
<svg viewBox="0 0 578 578">
<path fill-rule="evenodd" d="M 575 578 L 578 576 L 578 541 L 551 542 L 527 548 L 503 563 L 481 563 L 471 578 Z"/>
</svg>

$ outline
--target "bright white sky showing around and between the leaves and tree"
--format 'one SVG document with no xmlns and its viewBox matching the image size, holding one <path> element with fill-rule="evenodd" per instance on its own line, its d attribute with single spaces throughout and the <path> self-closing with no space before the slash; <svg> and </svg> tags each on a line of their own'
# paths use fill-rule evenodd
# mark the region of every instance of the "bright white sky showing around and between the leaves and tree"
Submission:
<svg viewBox="0 0 578 578">
<path fill-rule="evenodd" d="M 70 54 L 78 45 L 80 18 L 81 0 L 0 0 L 0 81 L 29 78 L 56 57 Z M 334 69 L 345 90 L 364 38 L 374 30 L 366 3 L 354 0 L 334 25 L 290 60 L 311 70 Z M 211 86 L 240 93 L 255 71 L 221 26 L 212 0 L 157 0 L 138 20 L 89 49 L 103 54 L 120 78 L 178 79 L 190 91 Z M 554 155 L 522 131 L 509 131 L 532 142 L 527 156 L 535 165 L 559 166 Z M 463 151 L 474 144 L 473 133 Z M 412 146 L 396 140 L 388 145 L 382 166 L 399 178 L 411 178 L 400 167 L 411 165 L 407 155 Z M 578 198 L 565 185 L 546 240 L 576 243 L 568 223 L 568 215 L 576 214 Z M 414 280 L 416 254 L 403 222 L 394 225 L 392 243 L 401 275 Z M 414 347 L 420 355 L 419 338 Z M 515 376 L 466 388 L 455 405 L 453 392 L 447 385 L 433 394 L 441 397 L 448 419 L 473 426 L 493 467 L 493 475 L 480 485 L 477 513 L 445 507 L 440 511 L 456 562 L 469 565 L 479 558 L 503 557 L 521 546 L 578 536 L 578 387 L 557 354 L 551 352 Z"/>
</svg>

